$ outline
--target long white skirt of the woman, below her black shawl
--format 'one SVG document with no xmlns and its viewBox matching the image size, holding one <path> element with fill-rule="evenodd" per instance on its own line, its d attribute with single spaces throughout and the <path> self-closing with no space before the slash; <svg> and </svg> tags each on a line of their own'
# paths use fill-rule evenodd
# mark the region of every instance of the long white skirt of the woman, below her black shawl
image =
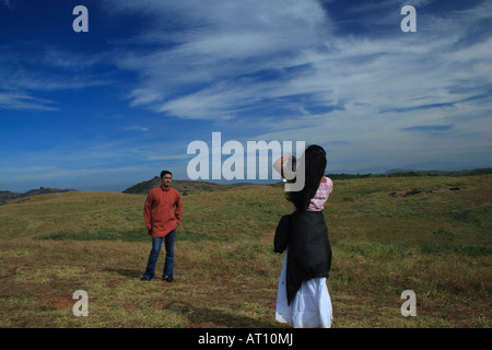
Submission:
<svg viewBox="0 0 492 350">
<path fill-rule="evenodd" d="M 286 259 L 288 250 L 285 250 L 280 272 L 276 319 L 280 323 L 292 324 L 294 328 L 330 328 L 333 316 L 325 277 L 303 282 L 291 305 L 288 305 Z"/>
</svg>

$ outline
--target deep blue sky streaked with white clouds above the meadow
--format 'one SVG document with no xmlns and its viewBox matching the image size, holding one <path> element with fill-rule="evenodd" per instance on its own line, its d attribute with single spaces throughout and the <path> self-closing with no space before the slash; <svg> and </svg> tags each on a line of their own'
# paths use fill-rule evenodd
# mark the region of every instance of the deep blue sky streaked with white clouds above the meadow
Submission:
<svg viewBox="0 0 492 350">
<path fill-rule="evenodd" d="M 490 167 L 491 20 L 487 0 L 0 0 L 0 190 L 187 179 L 212 132 L 320 144 L 332 173 Z"/>
</svg>

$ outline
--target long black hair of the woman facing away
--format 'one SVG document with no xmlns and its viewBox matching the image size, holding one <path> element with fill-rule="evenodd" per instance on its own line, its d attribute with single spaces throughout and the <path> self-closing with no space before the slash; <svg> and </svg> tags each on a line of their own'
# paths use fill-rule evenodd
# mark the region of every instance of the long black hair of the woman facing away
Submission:
<svg viewBox="0 0 492 350">
<path fill-rule="evenodd" d="M 297 210 L 306 210 L 309 207 L 311 199 L 315 196 L 319 187 L 321 177 L 325 175 L 326 152 L 317 145 L 309 145 L 297 160 L 297 172 L 302 172 L 304 167 L 305 183 L 304 188 L 300 191 L 288 191 L 286 199 L 291 201 Z"/>
</svg>

